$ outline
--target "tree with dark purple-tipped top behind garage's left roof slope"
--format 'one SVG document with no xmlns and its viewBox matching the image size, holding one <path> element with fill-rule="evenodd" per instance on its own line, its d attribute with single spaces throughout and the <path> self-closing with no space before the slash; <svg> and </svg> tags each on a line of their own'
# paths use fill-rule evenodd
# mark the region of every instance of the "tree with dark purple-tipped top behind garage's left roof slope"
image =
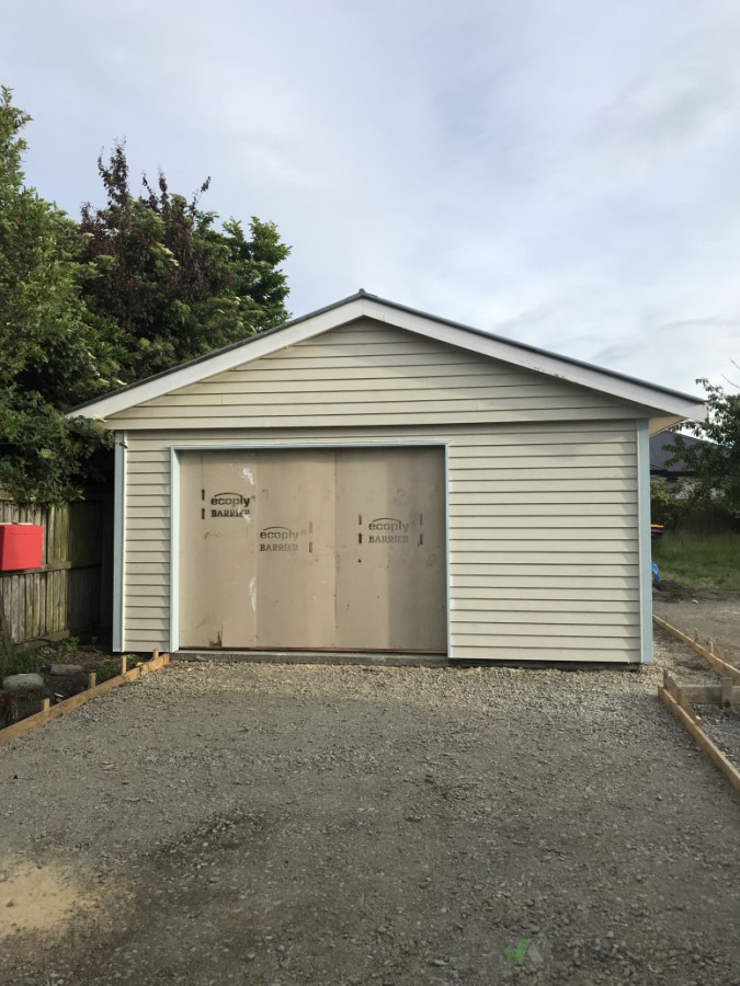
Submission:
<svg viewBox="0 0 740 986">
<path fill-rule="evenodd" d="M 147 377 L 284 322 L 288 294 L 280 264 L 289 253 L 275 226 L 252 218 L 249 236 L 230 219 L 170 192 L 160 172 L 143 194 L 129 190 L 116 144 L 98 161 L 107 205 L 82 209 L 88 236 L 83 293 L 91 309 L 121 330 L 116 356 L 126 382 Z"/>
</svg>

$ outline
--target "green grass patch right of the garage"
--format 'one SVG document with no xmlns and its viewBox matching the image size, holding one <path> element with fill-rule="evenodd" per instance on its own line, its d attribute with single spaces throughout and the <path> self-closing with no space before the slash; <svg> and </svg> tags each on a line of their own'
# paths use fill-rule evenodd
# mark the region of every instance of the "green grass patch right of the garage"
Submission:
<svg viewBox="0 0 740 986">
<path fill-rule="evenodd" d="M 652 544 L 661 580 L 740 592 L 740 535 L 696 538 L 669 532 Z"/>
</svg>

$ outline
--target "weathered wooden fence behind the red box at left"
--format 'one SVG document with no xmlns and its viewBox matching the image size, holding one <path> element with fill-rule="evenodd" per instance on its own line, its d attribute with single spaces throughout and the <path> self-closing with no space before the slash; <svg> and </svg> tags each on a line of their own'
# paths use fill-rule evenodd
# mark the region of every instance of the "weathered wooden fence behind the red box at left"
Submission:
<svg viewBox="0 0 740 986">
<path fill-rule="evenodd" d="M 0 629 L 15 642 L 59 640 L 111 626 L 113 502 L 93 494 L 64 506 L 14 503 L 0 492 L 0 523 L 41 524 L 42 567 L 0 572 Z"/>
</svg>

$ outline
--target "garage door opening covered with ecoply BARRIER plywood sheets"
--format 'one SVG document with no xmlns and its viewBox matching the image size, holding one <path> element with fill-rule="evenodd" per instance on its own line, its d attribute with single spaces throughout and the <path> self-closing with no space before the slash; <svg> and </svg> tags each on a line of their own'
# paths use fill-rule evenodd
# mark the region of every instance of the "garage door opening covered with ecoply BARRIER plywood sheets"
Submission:
<svg viewBox="0 0 740 986">
<path fill-rule="evenodd" d="M 447 650 L 444 449 L 182 451 L 180 646 Z"/>
</svg>

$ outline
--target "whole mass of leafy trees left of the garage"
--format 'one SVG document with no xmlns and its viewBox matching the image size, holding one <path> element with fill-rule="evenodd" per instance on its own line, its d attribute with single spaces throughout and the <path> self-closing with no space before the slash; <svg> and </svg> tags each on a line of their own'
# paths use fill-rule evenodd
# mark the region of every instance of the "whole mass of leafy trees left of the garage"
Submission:
<svg viewBox="0 0 740 986">
<path fill-rule="evenodd" d="M 0 486 L 62 502 L 100 477 L 112 438 L 64 409 L 280 324 L 288 255 L 274 225 L 128 190 L 124 149 L 99 161 L 107 206 L 78 227 L 25 185 L 30 116 L 0 99 Z"/>
</svg>

